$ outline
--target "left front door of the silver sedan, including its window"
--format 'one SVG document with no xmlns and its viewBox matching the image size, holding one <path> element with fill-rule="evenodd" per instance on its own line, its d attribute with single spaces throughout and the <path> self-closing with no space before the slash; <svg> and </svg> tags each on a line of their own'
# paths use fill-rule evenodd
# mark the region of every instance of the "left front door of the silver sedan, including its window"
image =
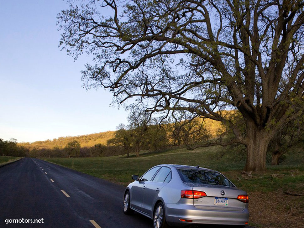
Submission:
<svg viewBox="0 0 304 228">
<path fill-rule="evenodd" d="M 142 175 L 138 181 L 135 181 L 134 185 L 132 186 L 132 193 L 131 193 L 131 201 L 130 206 L 137 209 L 142 210 L 143 202 L 144 202 L 144 192 L 146 189 L 146 183 L 150 181 L 156 171 L 160 167 L 153 167 L 149 169 L 144 175 Z"/>
</svg>

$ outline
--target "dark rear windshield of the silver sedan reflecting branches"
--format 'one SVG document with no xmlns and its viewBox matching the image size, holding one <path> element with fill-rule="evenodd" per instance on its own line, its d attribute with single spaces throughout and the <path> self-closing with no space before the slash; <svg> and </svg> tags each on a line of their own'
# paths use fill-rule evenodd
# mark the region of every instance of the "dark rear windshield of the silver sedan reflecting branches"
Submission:
<svg viewBox="0 0 304 228">
<path fill-rule="evenodd" d="M 233 186 L 222 174 L 200 169 L 178 169 L 178 173 L 184 182 L 196 184 L 212 184 Z"/>
</svg>

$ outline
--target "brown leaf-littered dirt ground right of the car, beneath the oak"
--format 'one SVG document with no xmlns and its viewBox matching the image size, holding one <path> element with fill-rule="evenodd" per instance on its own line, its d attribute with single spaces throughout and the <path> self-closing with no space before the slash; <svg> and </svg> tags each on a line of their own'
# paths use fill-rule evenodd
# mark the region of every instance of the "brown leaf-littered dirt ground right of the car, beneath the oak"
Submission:
<svg viewBox="0 0 304 228">
<path fill-rule="evenodd" d="M 285 174 L 283 174 L 284 172 Z M 301 176 L 303 175 L 302 171 L 290 170 L 286 173 L 286 171 L 272 170 L 254 173 L 253 176 L 236 171 L 228 171 L 225 172 L 226 174 L 231 179 L 236 180 L 235 183 L 238 183 L 238 180 L 243 181 L 243 183 L 246 183 L 246 179 L 257 180 L 247 185 L 250 213 L 249 225 L 257 228 L 304 228 L 304 182 L 297 182 L 296 185 L 294 183 L 287 182 L 287 184 L 283 184 L 281 182 L 277 188 L 273 185 L 269 186 L 268 191 L 256 190 L 262 188 L 263 185 L 254 184 L 260 184 L 258 180 L 261 177 L 275 175 L 279 180 L 288 176 Z M 242 189 L 242 187 L 240 188 Z M 301 195 L 294 196 L 284 192 Z"/>
</svg>

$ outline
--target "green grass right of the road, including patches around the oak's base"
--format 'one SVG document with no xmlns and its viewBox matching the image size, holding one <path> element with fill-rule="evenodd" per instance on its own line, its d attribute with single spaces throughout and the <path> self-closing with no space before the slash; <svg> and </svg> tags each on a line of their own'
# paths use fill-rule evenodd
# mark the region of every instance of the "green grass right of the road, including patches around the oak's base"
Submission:
<svg viewBox="0 0 304 228">
<path fill-rule="evenodd" d="M 229 160 L 223 156 L 218 159 L 217 152 L 222 147 L 212 148 L 197 148 L 193 151 L 188 151 L 184 148 L 167 150 L 159 153 L 142 153 L 140 157 L 131 155 L 130 158 L 126 156 L 113 156 L 113 157 L 100 157 L 100 158 L 44 158 L 46 161 L 57 163 L 68 168 L 73 168 L 80 172 L 97 176 L 112 182 L 127 185 L 131 181 L 133 174 L 141 175 L 147 169 L 158 164 L 185 164 L 185 165 L 200 165 L 201 167 L 211 168 L 224 173 L 231 179 L 238 187 L 243 187 L 245 190 L 272 191 L 280 185 L 284 185 L 289 180 L 290 170 L 302 172 L 304 160 L 302 153 L 290 155 L 283 165 L 280 166 L 267 166 L 268 172 L 253 174 L 257 179 L 245 180 L 241 177 L 241 171 L 244 168 L 244 161 L 238 162 Z M 292 156 L 301 155 L 301 159 L 293 159 Z M 288 164 L 292 160 L 292 164 Z M 240 175 L 235 175 L 240 174 Z M 279 174 L 278 177 L 271 177 L 271 174 Z M 282 176 L 285 175 L 285 176 Z M 273 175 L 275 176 L 275 175 Z M 301 176 L 301 175 L 300 175 Z M 282 177 L 282 178 L 279 178 Z M 291 176 L 292 177 L 292 176 Z M 240 178 L 241 181 L 238 179 Z M 269 180 L 275 179 L 273 185 L 269 185 Z M 243 180 L 244 179 L 244 180 Z M 285 180 L 286 179 L 286 180 Z M 237 181 L 239 180 L 239 181 Z M 301 179 L 299 179 L 301 181 Z M 252 182 L 252 184 L 250 184 Z M 249 184 L 248 184 L 249 183 Z"/>
</svg>

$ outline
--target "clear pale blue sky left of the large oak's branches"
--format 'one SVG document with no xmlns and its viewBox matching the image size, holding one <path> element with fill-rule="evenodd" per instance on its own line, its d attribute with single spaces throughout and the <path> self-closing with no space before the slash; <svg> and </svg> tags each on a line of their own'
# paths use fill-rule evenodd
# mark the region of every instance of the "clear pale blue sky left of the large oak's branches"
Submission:
<svg viewBox="0 0 304 228">
<path fill-rule="evenodd" d="M 115 130 L 127 113 L 109 107 L 112 94 L 86 91 L 74 62 L 58 48 L 61 0 L 0 0 L 0 138 L 34 142 Z"/>
</svg>

